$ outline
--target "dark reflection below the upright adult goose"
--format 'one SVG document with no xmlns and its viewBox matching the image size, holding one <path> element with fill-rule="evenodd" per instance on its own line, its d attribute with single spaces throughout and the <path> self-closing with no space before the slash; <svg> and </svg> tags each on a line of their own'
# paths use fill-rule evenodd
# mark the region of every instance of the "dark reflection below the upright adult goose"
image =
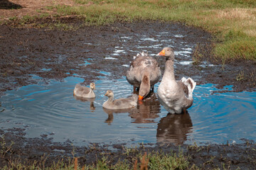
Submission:
<svg viewBox="0 0 256 170">
<path fill-rule="evenodd" d="M 171 114 L 161 118 L 157 126 L 156 141 L 181 145 L 192 132 L 192 121 L 188 113 Z"/>
</svg>

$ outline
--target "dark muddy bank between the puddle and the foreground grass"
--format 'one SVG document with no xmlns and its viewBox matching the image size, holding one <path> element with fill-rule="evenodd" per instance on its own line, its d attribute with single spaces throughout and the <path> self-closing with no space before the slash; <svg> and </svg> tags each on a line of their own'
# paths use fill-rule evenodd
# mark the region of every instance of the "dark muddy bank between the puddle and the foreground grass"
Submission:
<svg viewBox="0 0 256 170">
<path fill-rule="evenodd" d="M 119 160 L 127 159 L 131 165 L 135 163 L 137 154 L 144 152 L 164 152 L 179 153 L 188 156 L 190 167 L 195 164 L 200 169 L 255 169 L 256 144 L 253 141 L 245 140 L 244 144 L 223 144 L 223 145 L 154 145 L 143 144 L 132 152 L 127 152 L 125 144 L 105 145 L 91 144 L 87 147 L 74 146 L 72 142 L 65 143 L 52 142 L 50 136 L 42 135 L 40 138 L 26 138 L 22 129 L 14 128 L 0 130 L 0 142 L 6 142 L 5 148 L 1 152 L 0 167 L 9 166 L 10 162 L 20 162 L 25 165 L 50 167 L 53 162 L 63 161 L 65 164 L 73 164 L 73 158 L 78 157 L 80 167 L 83 165 L 96 164 L 97 160 L 107 157 L 108 164 L 116 164 Z M 11 142 L 14 142 L 11 145 Z M 1 145 L 2 146 L 2 145 Z M 131 166 L 132 169 L 132 166 Z"/>
</svg>

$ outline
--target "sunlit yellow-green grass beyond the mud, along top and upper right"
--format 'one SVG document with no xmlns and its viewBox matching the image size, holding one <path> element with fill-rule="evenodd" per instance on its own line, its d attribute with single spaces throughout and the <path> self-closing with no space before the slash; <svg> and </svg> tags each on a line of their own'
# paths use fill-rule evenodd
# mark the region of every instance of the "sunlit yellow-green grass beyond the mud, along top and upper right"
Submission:
<svg viewBox="0 0 256 170">
<path fill-rule="evenodd" d="M 212 33 L 215 37 L 213 55 L 223 63 L 240 59 L 256 60 L 256 1 L 254 0 L 74 1 L 75 6 L 58 5 L 48 9 L 57 11 L 58 16 L 79 16 L 85 26 L 145 20 L 182 22 Z M 47 14 L 41 17 L 47 17 Z M 10 18 L 10 20 L 15 19 Z M 24 16 L 21 24 L 28 20 L 33 20 L 33 16 Z M 61 22 L 38 26 L 75 29 Z"/>
</svg>

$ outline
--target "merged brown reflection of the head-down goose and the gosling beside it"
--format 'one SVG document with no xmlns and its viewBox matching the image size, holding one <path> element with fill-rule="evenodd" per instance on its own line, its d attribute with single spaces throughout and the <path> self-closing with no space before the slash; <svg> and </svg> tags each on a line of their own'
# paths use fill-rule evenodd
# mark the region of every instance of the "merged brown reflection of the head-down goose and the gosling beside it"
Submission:
<svg viewBox="0 0 256 170">
<path fill-rule="evenodd" d="M 103 111 L 108 114 L 108 118 L 105 123 L 111 125 L 114 120 L 113 113 L 129 113 L 132 118 L 132 123 L 155 123 L 155 118 L 158 118 L 161 106 L 159 101 L 156 100 L 156 95 L 151 95 L 150 98 L 146 98 L 145 101 L 139 102 L 135 108 L 127 109 L 107 109 L 103 108 Z"/>
</svg>

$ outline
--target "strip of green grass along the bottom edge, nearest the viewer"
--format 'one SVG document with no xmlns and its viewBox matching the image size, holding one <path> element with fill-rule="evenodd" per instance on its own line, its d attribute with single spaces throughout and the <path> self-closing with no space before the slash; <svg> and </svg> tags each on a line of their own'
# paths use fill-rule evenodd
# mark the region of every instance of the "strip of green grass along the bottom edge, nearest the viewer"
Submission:
<svg viewBox="0 0 256 170">
<path fill-rule="evenodd" d="M 124 153 L 124 155 L 126 155 Z M 130 158 L 132 157 L 132 162 Z M 127 159 L 128 158 L 128 159 Z M 115 164 L 111 164 L 111 157 L 103 155 L 95 164 L 78 164 L 79 158 L 69 159 L 68 163 L 64 163 L 63 159 L 55 162 L 50 167 L 45 166 L 47 157 L 42 157 L 40 161 L 32 163 L 21 162 L 20 159 L 10 160 L 9 166 L 1 167 L 1 169 L 100 169 L 100 170 L 122 170 L 122 169 L 198 169 L 195 165 L 189 166 L 188 157 L 184 156 L 180 151 L 178 154 L 164 154 L 159 152 L 151 152 L 142 155 L 131 154 L 126 159 L 118 160 Z"/>
</svg>

